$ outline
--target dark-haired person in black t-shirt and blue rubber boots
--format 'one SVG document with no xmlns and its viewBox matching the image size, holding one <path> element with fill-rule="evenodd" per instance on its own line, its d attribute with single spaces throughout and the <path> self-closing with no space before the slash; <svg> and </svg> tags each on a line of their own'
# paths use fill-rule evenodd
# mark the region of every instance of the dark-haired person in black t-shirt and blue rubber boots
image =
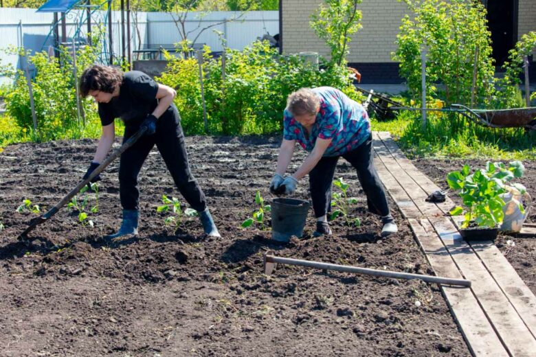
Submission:
<svg viewBox="0 0 536 357">
<path fill-rule="evenodd" d="M 205 195 L 195 181 L 188 165 L 188 154 L 184 145 L 181 117 L 173 98 L 174 89 L 159 84 L 140 71 L 122 73 L 113 67 L 95 65 L 80 77 L 80 95 L 91 95 L 98 103 L 102 124 L 97 151 L 84 178 L 107 156 L 115 138 L 113 120 L 121 118 L 125 124 L 123 142 L 133 136 L 139 128 L 146 128 L 144 136 L 121 154 L 119 165 L 120 198 L 123 221 L 119 231 L 106 238 L 137 234 L 139 220 L 139 189 L 137 176 L 153 146 L 157 146 L 175 185 L 188 204 L 199 213 L 206 234 L 220 234 L 205 202 Z M 100 176 L 92 182 L 100 180 Z"/>
</svg>

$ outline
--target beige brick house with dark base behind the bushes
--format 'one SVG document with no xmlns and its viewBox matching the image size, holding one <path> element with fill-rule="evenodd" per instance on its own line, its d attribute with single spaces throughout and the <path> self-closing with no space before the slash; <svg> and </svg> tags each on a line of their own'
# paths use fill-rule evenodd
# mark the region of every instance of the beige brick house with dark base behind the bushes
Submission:
<svg viewBox="0 0 536 357">
<path fill-rule="evenodd" d="M 483 0 L 489 12 L 494 56 L 498 62 L 506 56 L 516 38 L 536 30 L 536 0 Z M 309 26 L 310 16 L 322 0 L 280 0 L 280 42 L 283 53 L 315 51 L 328 56 L 329 49 Z M 407 12 L 397 0 L 363 0 L 363 28 L 350 42 L 348 62 L 363 74 L 364 82 L 400 82 L 398 64 L 391 52 L 401 19 Z M 535 51 L 536 54 L 536 51 Z M 535 56 L 536 57 L 536 56 Z M 531 65 L 536 80 L 536 63 Z"/>
</svg>

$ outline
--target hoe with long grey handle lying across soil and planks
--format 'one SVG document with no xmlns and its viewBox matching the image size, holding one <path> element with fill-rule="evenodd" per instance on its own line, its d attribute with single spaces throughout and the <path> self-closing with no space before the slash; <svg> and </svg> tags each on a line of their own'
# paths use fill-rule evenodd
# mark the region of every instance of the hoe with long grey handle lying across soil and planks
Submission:
<svg viewBox="0 0 536 357">
<path fill-rule="evenodd" d="M 428 283 L 464 286 L 467 288 L 471 286 L 471 281 L 465 280 L 465 279 L 433 277 L 431 275 L 399 273 L 399 272 L 390 271 L 390 270 L 359 268 L 357 266 L 345 266 L 345 265 L 339 265 L 339 264 L 313 262 L 309 260 L 276 257 L 275 255 L 273 255 L 273 251 L 267 251 L 265 253 L 264 260 L 265 260 L 265 274 L 270 274 L 273 268 L 275 268 L 275 264 L 290 264 L 290 265 L 306 266 L 309 268 L 337 270 L 337 271 L 341 271 L 345 273 L 358 273 L 358 274 L 365 274 L 365 275 L 373 275 L 376 277 L 390 277 L 390 278 L 395 278 L 395 279 L 407 279 L 407 280 L 419 279 L 422 281 L 426 281 Z"/>
</svg>

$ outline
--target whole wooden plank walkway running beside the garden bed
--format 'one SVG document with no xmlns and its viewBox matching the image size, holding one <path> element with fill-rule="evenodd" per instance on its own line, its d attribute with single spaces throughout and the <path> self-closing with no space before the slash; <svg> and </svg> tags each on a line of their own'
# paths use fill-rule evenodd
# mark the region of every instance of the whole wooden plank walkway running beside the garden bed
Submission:
<svg viewBox="0 0 536 357">
<path fill-rule="evenodd" d="M 536 297 L 493 242 L 467 244 L 451 218 L 454 206 L 425 202 L 439 189 L 399 150 L 389 133 L 373 133 L 375 166 L 408 219 L 437 275 L 465 277 L 470 289 L 441 286 L 475 356 L 536 356 Z"/>
</svg>

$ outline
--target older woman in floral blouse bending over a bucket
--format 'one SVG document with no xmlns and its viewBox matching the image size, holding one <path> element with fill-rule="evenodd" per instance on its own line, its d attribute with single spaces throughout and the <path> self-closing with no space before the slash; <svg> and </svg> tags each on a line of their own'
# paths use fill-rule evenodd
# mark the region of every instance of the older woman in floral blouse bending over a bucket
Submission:
<svg viewBox="0 0 536 357">
<path fill-rule="evenodd" d="M 294 174 L 283 177 L 296 142 L 309 156 Z M 344 157 L 357 170 L 369 211 L 381 217 L 381 235 L 397 232 L 372 161 L 370 120 L 363 106 L 331 87 L 302 88 L 291 93 L 284 110 L 283 141 L 270 191 L 293 194 L 298 181 L 309 174 L 317 219 L 315 236 L 331 234 L 326 214 L 331 206 L 331 183 L 339 157 Z"/>
</svg>

